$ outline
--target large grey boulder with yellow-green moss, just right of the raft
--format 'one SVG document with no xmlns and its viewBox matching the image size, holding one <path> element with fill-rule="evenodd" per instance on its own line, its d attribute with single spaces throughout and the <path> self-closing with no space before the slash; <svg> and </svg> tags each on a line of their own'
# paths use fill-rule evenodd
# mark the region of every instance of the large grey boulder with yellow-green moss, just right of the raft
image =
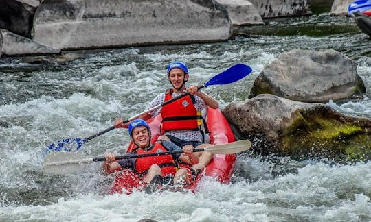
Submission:
<svg viewBox="0 0 371 222">
<path fill-rule="evenodd" d="M 322 103 L 266 94 L 230 103 L 223 114 L 263 154 L 337 162 L 371 158 L 371 119 L 346 116 Z"/>
</svg>

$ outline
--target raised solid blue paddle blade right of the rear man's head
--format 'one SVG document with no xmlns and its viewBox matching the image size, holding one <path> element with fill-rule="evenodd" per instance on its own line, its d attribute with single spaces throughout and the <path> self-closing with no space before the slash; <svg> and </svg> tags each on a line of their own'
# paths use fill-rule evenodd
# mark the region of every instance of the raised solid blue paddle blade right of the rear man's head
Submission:
<svg viewBox="0 0 371 222">
<path fill-rule="evenodd" d="M 243 77 L 249 75 L 251 71 L 252 69 L 250 66 L 247 66 L 245 64 L 235 64 L 229 69 L 212 77 L 212 79 L 210 79 L 204 85 L 205 87 L 207 87 L 207 86 L 212 86 L 212 85 L 230 84 L 232 82 L 236 82 L 242 79 Z"/>
</svg>

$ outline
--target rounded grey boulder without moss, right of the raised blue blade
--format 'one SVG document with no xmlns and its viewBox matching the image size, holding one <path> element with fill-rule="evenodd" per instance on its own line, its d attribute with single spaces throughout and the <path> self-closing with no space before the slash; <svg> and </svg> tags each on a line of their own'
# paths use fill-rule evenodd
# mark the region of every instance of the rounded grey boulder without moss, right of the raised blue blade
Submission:
<svg viewBox="0 0 371 222">
<path fill-rule="evenodd" d="M 362 99 L 366 88 L 356 68 L 354 61 L 331 49 L 294 49 L 265 66 L 249 98 L 270 93 L 303 102 Z"/>
</svg>

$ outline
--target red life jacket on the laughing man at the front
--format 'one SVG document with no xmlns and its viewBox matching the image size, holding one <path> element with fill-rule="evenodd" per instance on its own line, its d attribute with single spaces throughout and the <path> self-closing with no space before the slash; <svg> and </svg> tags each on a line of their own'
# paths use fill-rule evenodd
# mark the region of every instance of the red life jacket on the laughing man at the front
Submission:
<svg viewBox="0 0 371 222">
<path fill-rule="evenodd" d="M 135 153 L 137 154 L 144 154 L 144 153 L 160 153 L 166 152 L 166 149 L 161 143 L 155 143 L 150 149 L 145 151 L 144 149 L 137 149 Z M 162 175 L 175 175 L 177 172 L 177 165 L 174 162 L 174 158 L 169 155 L 161 155 L 161 156 L 148 156 L 145 158 L 137 158 L 135 171 L 138 174 L 145 175 L 150 169 L 150 166 L 153 164 L 159 165 L 161 167 Z"/>
</svg>

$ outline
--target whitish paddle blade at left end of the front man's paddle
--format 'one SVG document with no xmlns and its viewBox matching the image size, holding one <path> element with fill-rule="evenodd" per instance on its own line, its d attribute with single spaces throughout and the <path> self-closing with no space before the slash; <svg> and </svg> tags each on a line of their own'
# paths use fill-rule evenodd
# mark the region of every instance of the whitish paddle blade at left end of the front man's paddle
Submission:
<svg viewBox="0 0 371 222">
<path fill-rule="evenodd" d="M 49 153 L 44 160 L 44 172 L 51 174 L 65 174 L 82 171 L 85 164 L 93 162 L 93 158 L 86 158 L 82 153 L 54 152 Z"/>
</svg>

